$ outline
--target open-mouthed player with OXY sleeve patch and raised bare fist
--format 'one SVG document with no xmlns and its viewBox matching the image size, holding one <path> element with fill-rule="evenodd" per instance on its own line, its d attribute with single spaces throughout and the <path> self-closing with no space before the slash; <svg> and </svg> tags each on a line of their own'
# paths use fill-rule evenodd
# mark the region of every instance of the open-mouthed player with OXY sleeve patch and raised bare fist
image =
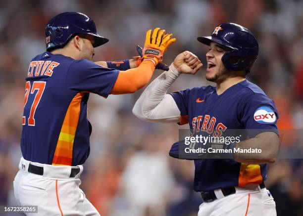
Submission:
<svg viewBox="0 0 303 216">
<path fill-rule="evenodd" d="M 194 160 L 194 189 L 202 195 L 198 216 L 276 216 L 264 181 L 267 163 L 275 161 L 279 148 L 278 113 L 262 89 L 245 78 L 258 55 L 258 43 L 251 31 L 234 23 L 222 23 L 198 41 L 209 46 L 205 78 L 216 86 L 166 94 L 180 74 L 196 72 L 177 57 L 169 71 L 145 89 L 133 113 L 144 121 L 188 123 L 191 134 L 216 137 L 229 129 L 245 130 L 247 137 L 232 146 L 258 148 L 262 153 L 234 152 L 228 159 Z M 186 61 L 192 64 L 193 59 Z M 174 147 L 170 156 L 180 158 Z"/>
</svg>

